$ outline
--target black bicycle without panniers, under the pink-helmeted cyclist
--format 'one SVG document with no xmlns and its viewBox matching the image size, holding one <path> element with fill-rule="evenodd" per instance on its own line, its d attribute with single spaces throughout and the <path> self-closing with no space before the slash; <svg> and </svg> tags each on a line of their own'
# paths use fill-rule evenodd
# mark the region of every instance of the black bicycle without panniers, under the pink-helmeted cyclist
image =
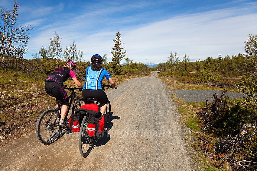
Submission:
<svg viewBox="0 0 257 171">
<path fill-rule="evenodd" d="M 71 88 L 65 85 L 64 89 L 71 91 L 71 95 L 68 97 L 68 99 L 70 99 L 70 103 L 69 103 L 67 114 L 65 117 L 65 121 L 67 122 L 68 120 L 67 116 L 70 111 L 72 102 L 74 102 L 71 110 L 72 114 L 74 113 L 74 109 L 80 108 L 85 103 L 82 100 L 82 98 L 79 98 L 79 96 L 81 95 L 82 88 L 75 88 L 75 87 Z M 79 96 L 76 96 L 75 90 L 80 91 Z M 54 94 L 49 94 L 49 95 L 52 97 L 55 97 Z M 37 139 L 42 144 L 49 145 L 57 141 L 57 139 L 60 137 L 61 131 L 63 130 L 63 128 L 65 128 L 64 126 L 59 125 L 60 117 L 61 117 L 60 111 L 61 111 L 61 104 L 58 104 L 58 107 L 56 109 L 47 109 L 39 116 L 37 120 L 37 125 L 36 125 L 36 134 L 37 134 Z M 69 127 L 66 127 L 66 128 L 69 128 Z"/>
</svg>

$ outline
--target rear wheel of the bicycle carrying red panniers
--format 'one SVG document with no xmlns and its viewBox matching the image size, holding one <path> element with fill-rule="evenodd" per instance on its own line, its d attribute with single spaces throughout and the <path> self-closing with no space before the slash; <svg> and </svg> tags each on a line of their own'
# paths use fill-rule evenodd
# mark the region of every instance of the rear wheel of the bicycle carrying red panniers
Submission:
<svg viewBox="0 0 257 171">
<path fill-rule="evenodd" d="M 81 126 L 80 126 L 80 134 L 79 134 L 79 150 L 80 154 L 83 157 L 87 157 L 90 151 L 93 148 L 94 137 L 90 137 L 87 134 L 87 118 L 88 116 L 84 116 Z"/>
</svg>

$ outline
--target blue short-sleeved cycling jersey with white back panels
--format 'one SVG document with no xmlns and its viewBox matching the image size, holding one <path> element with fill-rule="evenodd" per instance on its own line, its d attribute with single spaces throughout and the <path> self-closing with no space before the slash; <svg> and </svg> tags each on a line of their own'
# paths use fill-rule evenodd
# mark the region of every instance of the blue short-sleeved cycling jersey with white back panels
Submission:
<svg viewBox="0 0 257 171">
<path fill-rule="evenodd" d="M 109 80 L 111 77 L 110 73 L 105 69 L 101 68 L 100 71 L 94 71 L 91 69 L 92 65 L 86 68 L 86 81 L 83 89 L 98 90 L 101 89 L 102 80 L 106 78 Z"/>
</svg>

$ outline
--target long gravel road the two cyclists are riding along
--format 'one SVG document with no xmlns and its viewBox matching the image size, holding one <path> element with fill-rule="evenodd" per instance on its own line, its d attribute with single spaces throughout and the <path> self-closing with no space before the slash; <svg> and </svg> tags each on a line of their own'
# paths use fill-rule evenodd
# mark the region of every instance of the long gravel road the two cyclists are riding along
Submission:
<svg viewBox="0 0 257 171">
<path fill-rule="evenodd" d="M 155 76 L 134 78 L 106 91 L 111 102 L 108 132 L 88 157 L 78 132 L 45 146 L 35 130 L 0 150 L 1 170 L 193 170 L 176 106 Z"/>
</svg>

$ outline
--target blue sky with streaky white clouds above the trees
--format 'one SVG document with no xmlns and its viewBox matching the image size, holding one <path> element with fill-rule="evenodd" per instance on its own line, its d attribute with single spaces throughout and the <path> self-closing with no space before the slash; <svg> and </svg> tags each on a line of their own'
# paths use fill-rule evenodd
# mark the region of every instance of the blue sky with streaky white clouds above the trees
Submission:
<svg viewBox="0 0 257 171">
<path fill-rule="evenodd" d="M 244 53 L 249 34 L 257 34 L 256 0 L 18 0 L 17 24 L 33 27 L 28 53 L 48 47 L 54 32 L 62 50 L 75 41 L 84 60 L 107 54 L 111 61 L 112 39 L 121 33 L 126 58 L 160 63 L 177 51 L 191 61 L 224 58 Z M 10 0 L 0 0 L 12 9 Z"/>
</svg>

